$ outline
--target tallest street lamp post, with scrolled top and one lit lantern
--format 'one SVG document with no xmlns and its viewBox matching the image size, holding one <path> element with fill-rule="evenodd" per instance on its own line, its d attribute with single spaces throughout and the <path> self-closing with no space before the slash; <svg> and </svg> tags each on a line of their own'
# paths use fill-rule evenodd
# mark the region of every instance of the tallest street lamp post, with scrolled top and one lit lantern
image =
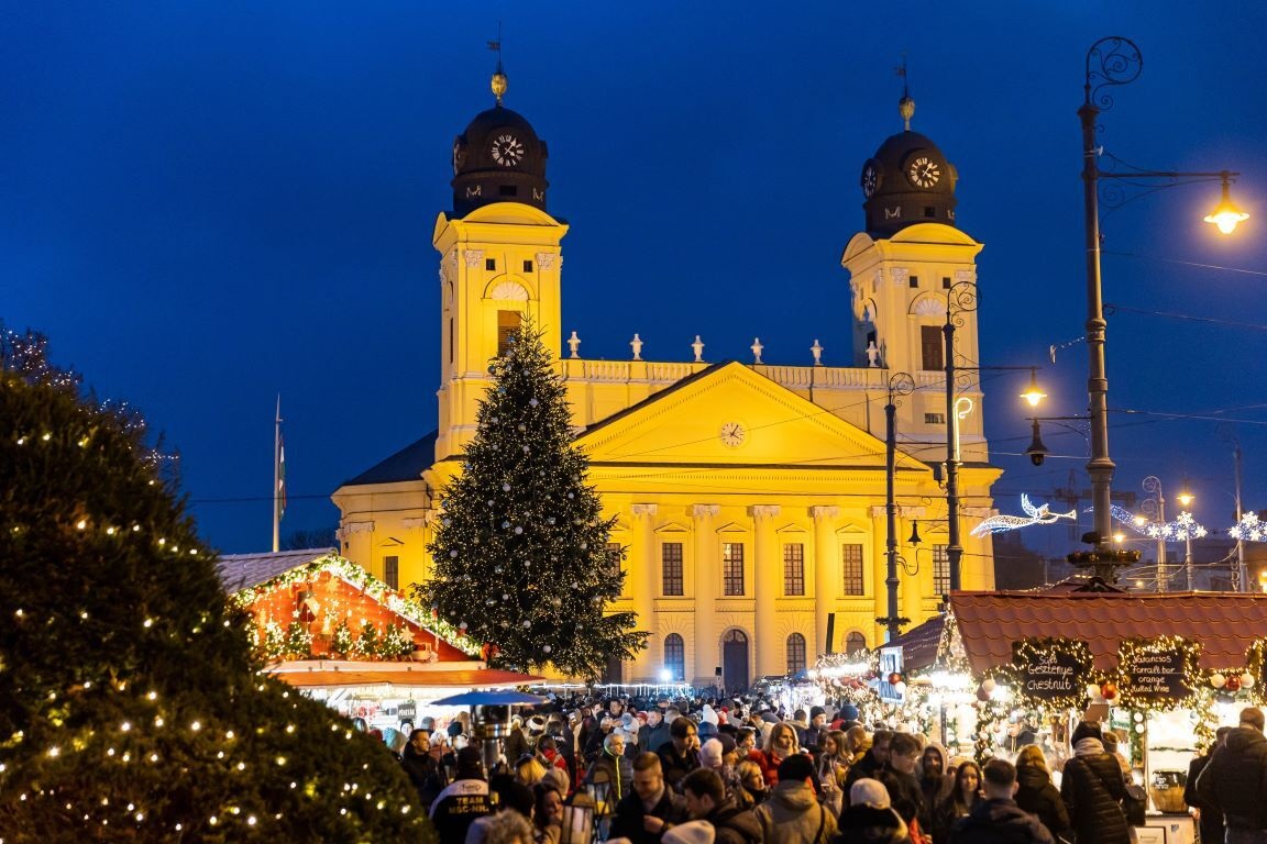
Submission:
<svg viewBox="0 0 1267 844">
<path fill-rule="evenodd" d="M 1101 38 L 1087 51 L 1083 101 L 1078 109 L 1082 121 L 1082 197 L 1086 214 L 1085 244 L 1087 271 L 1087 397 L 1091 416 L 1091 459 L 1087 475 L 1091 477 L 1091 502 L 1095 509 L 1096 550 L 1106 550 L 1112 534 L 1111 485 L 1114 462 L 1109 457 L 1109 376 L 1105 369 L 1105 315 L 1100 275 L 1100 180 L 1121 178 L 1131 181 L 1168 180 L 1161 187 L 1191 181 L 1219 180 L 1223 182 L 1223 200 L 1205 218 L 1224 234 L 1230 234 L 1248 215 L 1240 211 L 1228 195 L 1229 185 L 1239 173 L 1144 171 L 1102 172 L 1100 148 L 1096 146 L 1096 119 L 1112 106 L 1112 96 L 1102 92 L 1115 85 L 1126 85 L 1139 78 L 1144 58 L 1129 38 L 1110 35 Z M 1185 180 L 1185 181 L 1177 181 Z"/>
</svg>

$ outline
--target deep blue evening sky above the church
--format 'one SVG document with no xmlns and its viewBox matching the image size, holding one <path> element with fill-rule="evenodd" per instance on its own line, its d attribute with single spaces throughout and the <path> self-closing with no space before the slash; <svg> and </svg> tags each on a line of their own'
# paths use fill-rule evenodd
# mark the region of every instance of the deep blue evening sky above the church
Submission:
<svg viewBox="0 0 1267 844">
<path fill-rule="evenodd" d="M 698 333 L 711 361 L 750 359 L 759 335 L 767 362 L 808 363 L 815 338 L 848 362 L 839 258 L 862 164 L 901 128 L 905 51 L 914 128 L 958 167 L 959 225 L 986 244 L 982 363 L 1043 362 L 1086 310 L 1083 56 L 1135 39 L 1143 75 L 1102 115 L 1106 151 L 1239 170 L 1254 218 L 1218 239 L 1200 221 L 1216 185 L 1105 216 L 1110 406 L 1213 418 L 1115 414 L 1115 488 L 1154 473 L 1173 495 L 1187 476 L 1225 528 L 1228 418 L 1245 505 L 1267 507 L 1263 4 L 19 0 L 0 23 L 0 319 L 166 431 L 212 543 L 270 542 L 276 394 L 284 533 L 332 525 L 341 481 L 433 426 L 430 238 L 454 135 L 492 104 L 499 19 L 507 105 L 549 142 L 550 210 L 573 225 L 565 333 L 608 358 L 639 332 L 649 359 L 687 359 Z M 1085 413 L 1082 344 L 1043 378 L 1045 413 Z M 987 383 L 1009 512 L 1071 469 L 1086 485 L 1081 435 L 1047 433 L 1068 459 L 1041 469 L 1014 457 L 1019 386 Z"/>
</svg>

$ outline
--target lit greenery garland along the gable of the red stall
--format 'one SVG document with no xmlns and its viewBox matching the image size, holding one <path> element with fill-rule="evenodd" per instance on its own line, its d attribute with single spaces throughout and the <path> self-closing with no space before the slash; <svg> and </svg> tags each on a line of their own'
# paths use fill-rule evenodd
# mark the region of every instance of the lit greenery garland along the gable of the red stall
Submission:
<svg viewBox="0 0 1267 844">
<path fill-rule="evenodd" d="M 338 554 L 326 554 L 324 557 L 314 559 L 310 563 L 307 563 L 304 566 L 296 566 L 295 568 L 283 572 L 281 574 L 274 577 L 270 581 L 234 592 L 232 600 L 238 607 L 248 610 L 251 609 L 252 605 L 255 605 L 256 601 L 258 601 L 261 597 L 266 596 L 267 593 L 272 592 L 279 587 L 291 586 L 293 583 L 299 583 L 299 582 L 314 581 L 317 577 L 319 577 L 322 573 L 326 572 L 328 572 L 334 577 L 338 577 L 350 586 L 361 590 L 379 604 L 383 604 L 397 615 L 400 615 L 402 617 L 413 621 L 423 630 L 440 635 L 441 639 L 443 639 L 452 647 L 457 648 L 466 655 L 469 657 L 479 655 L 480 643 L 468 636 L 465 630 L 461 630 L 449 624 L 443 619 L 438 617 L 433 611 L 424 610 L 422 605 L 404 597 L 403 595 L 393 590 L 390 586 L 388 586 L 385 582 L 374 577 L 374 574 L 370 574 L 367 571 L 365 571 L 352 561 L 345 559 Z M 375 634 L 378 631 L 375 631 Z M 347 649 L 348 644 L 347 643 L 341 643 L 341 644 L 342 647 L 340 648 L 334 648 L 332 645 L 332 649 L 336 653 L 350 655 L 352 650 Z M 265 630 L 264 653 L 270 659 L 276 659 L 284 653 L 284 650 L 277 649 L 275 643 L 270 642 L 267 629 Z M 362 650 L 359 653 L 365 654 L 369 652 Z M 395 655 L 403 655 L 403 653 L 374 652 L 370 653 L 370 655 L 395 657 Z"/>
</svg>

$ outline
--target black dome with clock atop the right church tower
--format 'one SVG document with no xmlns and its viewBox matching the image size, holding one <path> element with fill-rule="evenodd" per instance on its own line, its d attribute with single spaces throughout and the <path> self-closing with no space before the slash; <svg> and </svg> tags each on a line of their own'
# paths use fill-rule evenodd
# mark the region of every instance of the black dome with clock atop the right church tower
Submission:
<svg viewBox="0 0 1267 844">
<path fill-rule="evenodd" d="M 915 100 L 898 104 L 906 129 L 879 146 L 863 164 L 867 232 L 889 237 L 916 223 L 954 225 L 959 173 L 933 140 L 911 132 Z"/>
</svg>

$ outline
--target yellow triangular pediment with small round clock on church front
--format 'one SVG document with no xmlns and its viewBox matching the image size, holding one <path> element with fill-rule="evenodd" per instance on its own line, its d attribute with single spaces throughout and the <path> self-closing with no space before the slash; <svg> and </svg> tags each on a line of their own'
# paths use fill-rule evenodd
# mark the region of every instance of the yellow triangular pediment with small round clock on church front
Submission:
<svg viewBox="0 0 1267 844">
<path fill-rule="evenodd" d="M 734 362 L 590 425 L 576 442 L 593 463 L 884 466 L 883 440 Z"/>
</svg>

